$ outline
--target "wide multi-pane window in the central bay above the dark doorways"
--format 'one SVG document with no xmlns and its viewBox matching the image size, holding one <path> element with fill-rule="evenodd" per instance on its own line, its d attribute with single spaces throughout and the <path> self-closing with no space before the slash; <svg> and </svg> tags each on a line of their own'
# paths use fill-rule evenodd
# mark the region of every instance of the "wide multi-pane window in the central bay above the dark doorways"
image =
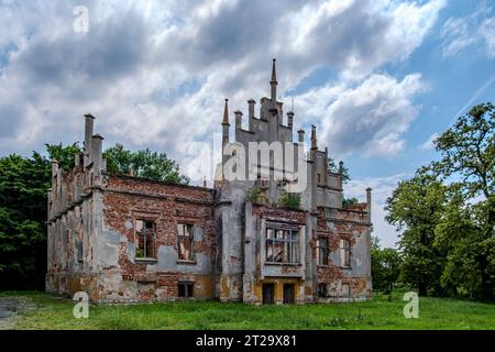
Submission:
<svg viewBox="0 0 495 352">
<path fill-rule="evenodd" d="M 268 263 L 299 263 L 299 231 L 266 229 L 265 250 Z"/>
</svg>

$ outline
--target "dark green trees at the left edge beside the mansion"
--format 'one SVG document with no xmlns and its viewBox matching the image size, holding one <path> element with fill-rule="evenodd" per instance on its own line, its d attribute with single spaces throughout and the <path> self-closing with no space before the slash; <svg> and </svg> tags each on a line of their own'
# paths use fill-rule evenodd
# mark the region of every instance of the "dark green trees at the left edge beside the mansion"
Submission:
<svg viewBox="0 0 495 352">
<path fill-rule="evenodd" d="M 0 158 L 0 287 L 43 288 L 46 273 L 46 202 L 52 164 L 74 164 L 79 148 L 46 144 L 48 157 Z"/>
</svg>

